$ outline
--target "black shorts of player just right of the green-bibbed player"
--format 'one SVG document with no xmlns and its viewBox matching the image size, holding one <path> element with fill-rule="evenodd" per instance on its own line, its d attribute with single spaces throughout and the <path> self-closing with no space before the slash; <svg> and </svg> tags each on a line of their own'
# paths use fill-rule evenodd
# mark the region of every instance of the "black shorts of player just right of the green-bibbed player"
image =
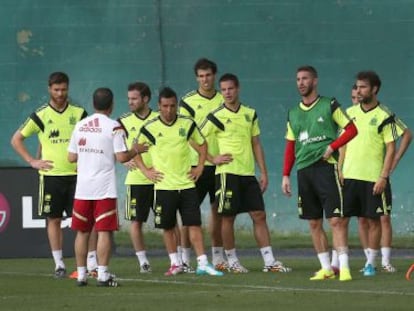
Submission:
<svg viewBox="0 0 414 311">
<path fill-rule="evenodd" d="M 382 215 L 391 214 L 392 193 L 389 181 L 387 180 L 382 194 L 372 194 L 374 185 L 370 181 L 345 179 L 343 192 L 346 216 L 378 219 Z"/>
</svg>

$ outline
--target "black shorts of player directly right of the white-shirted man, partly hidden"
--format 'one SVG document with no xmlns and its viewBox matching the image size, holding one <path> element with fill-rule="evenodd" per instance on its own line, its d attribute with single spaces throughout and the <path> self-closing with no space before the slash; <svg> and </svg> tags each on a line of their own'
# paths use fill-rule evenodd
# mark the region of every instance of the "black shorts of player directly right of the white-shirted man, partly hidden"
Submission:
<svg viewBox="0 0 414 311">
<path fill-rule="evenodd" d="M 144 223 L 154 205 L 154 185 L 127 185 L 125 219 Z"/>
</svg>

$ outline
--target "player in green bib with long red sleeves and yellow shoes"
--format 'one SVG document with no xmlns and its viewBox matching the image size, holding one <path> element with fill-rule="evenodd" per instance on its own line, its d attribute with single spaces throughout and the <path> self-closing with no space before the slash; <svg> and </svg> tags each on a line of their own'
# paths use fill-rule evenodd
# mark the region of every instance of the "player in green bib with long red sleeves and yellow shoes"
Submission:
<svg viewBox="0 0 414 311">
<path fill-rule="evenodd" d="M 352 280 L 348 262 L 349 218 L 343 210 L 333 153 L 355 137 L 357 129 L 334 98 L 318 94 L 318 73 L 314 67 L 299 67 L 296 85 L 302 101 L 288 113 L 282 192 L 291 196 L 290 172 L 296 161 L 299 217 L 309 222 L 321 264 L 310 280 L 335 278 L 323 228 L 325 214 L 332 229 L 333 246 L 339 254 L 339 280 L 349 281 Z M 338 127 L 345 129 L 339 137 Z"/>
</svg>

